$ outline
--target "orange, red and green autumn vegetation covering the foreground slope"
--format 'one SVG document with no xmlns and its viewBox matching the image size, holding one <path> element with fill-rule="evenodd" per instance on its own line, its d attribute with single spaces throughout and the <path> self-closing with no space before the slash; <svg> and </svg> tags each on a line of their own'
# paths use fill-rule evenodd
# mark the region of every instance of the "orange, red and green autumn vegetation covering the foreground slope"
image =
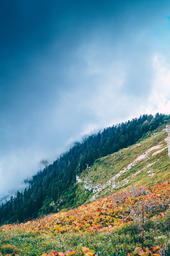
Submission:
<svg viewBox="0 0 170 256">
<path fill-rule="evenodd" d="M 0 250 L 32 256 L 168 255 L 169 195 L 168 182 L 133 186 L 74 210 L 5 225 Z"/>
</svg>

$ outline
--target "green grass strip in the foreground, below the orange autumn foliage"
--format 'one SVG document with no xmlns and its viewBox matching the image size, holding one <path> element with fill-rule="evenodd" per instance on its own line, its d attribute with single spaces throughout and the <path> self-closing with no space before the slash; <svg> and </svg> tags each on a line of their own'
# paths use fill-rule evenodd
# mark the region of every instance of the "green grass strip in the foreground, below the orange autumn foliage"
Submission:
<svg viewBox="0 0 170 256">
<path fill-rule="evenodd" d="M 168 212 L 165 213 L 168 217 Z M 37 256 L 43 253 L 55 251 L 65 252 L 76 250 L 79 246 L 86 246 L 96 251 L 101 256 L 125 256 L 128 252 L 134 251 L 136 246 L 141 246 L 140 230 L 137 226 L 124 224 L 119 228 L 108 231 L 94 231 L 65 234 L 17 234 L 15 230 L 9 230 L 8 234 L 1 234 L 0 250 L 3 244 L 11 244 L 12 251 L 1 250 L 5 253 L 15 251 L 22 256 Z M 169 235 L 169 224 L 166 218 L 157 216 L 157 221 L 150 220 L 145 226 L 144 246 L 150 247 L 157 244 L 167 244 Z M 167 244 L 168 245 L 168 244 Z"/>
</svg>

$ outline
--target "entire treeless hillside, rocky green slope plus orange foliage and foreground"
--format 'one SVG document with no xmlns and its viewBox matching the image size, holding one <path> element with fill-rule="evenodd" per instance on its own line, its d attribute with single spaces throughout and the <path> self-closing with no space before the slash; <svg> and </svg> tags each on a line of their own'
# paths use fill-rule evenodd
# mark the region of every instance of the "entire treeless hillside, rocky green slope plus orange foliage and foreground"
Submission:
<svg viewBox="0 0 170 256">
<path fill-rule="evenodd" d="M 135 145 L 96 160 L 72 188 L 75 205 L 85 205 L 2 226 L 0 255 L 168 256 L 167 139 L 160 125 Z"/>
</svg>

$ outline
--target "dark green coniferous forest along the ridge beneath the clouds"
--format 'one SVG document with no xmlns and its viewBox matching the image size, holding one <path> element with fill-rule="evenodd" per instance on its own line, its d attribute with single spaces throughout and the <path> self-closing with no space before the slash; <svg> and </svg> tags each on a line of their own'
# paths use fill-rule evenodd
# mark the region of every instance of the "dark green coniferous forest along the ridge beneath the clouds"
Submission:
<svg viewBox="0 0 170 256">
<path fill-rule="evenodd" d="M 63 208 L 74 208 L 76 175 L 96 159 L 133 145 L 169 119 L 170 115 L 165 114 L 143 115 L 107 127 L 82 143 L 77 142 L 53 164 L 33 176 L 24 191 L 18 191 L 15 197 L 11 196 L 1 205 L 0 224 L 23 222 Z"/>
</svg>

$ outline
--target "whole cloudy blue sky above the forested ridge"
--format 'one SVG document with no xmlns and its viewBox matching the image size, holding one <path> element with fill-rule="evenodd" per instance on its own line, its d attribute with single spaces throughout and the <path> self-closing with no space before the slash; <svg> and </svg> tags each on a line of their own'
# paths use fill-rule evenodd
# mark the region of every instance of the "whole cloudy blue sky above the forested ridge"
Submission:
<svg viewBox="0 0 170 256">
<path fill-rule="evenodd" d="M 86 134 L 170 113 L 169 0 L 0 3 L 0 198 Z"/>
</svg>

